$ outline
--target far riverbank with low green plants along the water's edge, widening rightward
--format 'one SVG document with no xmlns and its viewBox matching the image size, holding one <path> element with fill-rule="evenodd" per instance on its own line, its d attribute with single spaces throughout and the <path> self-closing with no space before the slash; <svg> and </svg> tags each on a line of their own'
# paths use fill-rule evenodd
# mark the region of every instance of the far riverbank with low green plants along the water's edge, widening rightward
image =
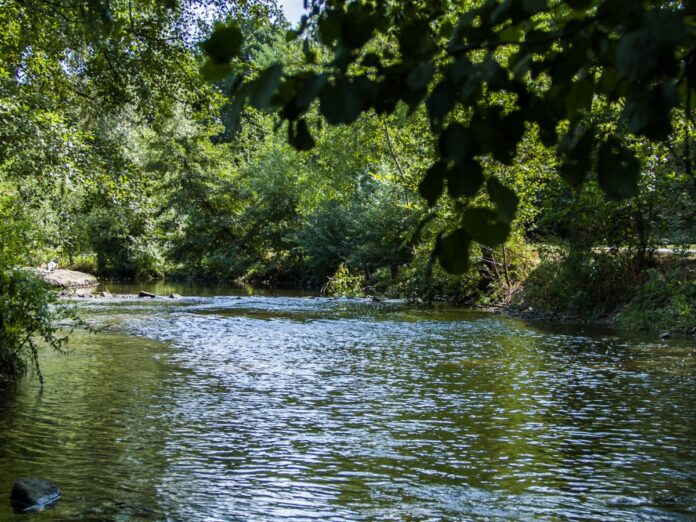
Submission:
<svg viewBox="0 0 696 522">
<path fill-rule="evenodd" d="M 471 270 L 463 276 L 446 274 L 438 266 L 431 267 L 428 273 L 427 265 L 419 264 L 419 257 L 393 275 L 355 273 L 341 265 L 323 289 L 310 285 L 290 291 L 401 298 L 415 303 L 445 302 L 527 320 L 593 323 L 625 331 L 652 332 L 656 336 L 665 332 L 691 335 L 696 327 L 696 260 L 690 256 L 657 254 L 641 266 L 635 255 L 625 250 L 578 252 L 526 245 L 509 247 L 505 255 L 492 250 L 484 254 L 472 260 Z M 225 292 L 241 291 L 251 295 L 261 288 L 275 294 L 288 292 L 287 286 L 274 289 L 263 281 L 254 283 L 258 286 L 213 279 L 208 280 L 206 292 L 226 295 Z M 161 296 L 193 295 L 181 290 L 182 284 L 200 288 L 200 283 L 166 280 L 143 283 L 137 291 L 143 289 Z M 118 290 L 117 283 L 104 289 L 124 293 Z M 89 295 L 93 294 L 83 297 Z"/>
</svg>

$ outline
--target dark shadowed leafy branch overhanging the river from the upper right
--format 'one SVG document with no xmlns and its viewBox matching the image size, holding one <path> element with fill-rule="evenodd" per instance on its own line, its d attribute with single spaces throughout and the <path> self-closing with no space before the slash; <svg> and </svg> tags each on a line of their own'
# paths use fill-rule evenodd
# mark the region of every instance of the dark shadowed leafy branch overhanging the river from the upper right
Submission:
<svg viewBox="0 0 696 522">
<path fill-rule="evenodd" d="M 312 0 L 288 32 L 302 64 L 275 63 L 252 79 L 227 80 L 230 126 L 245 103 L 287 122 L 299 150 L 315 146 L 307 114 L 318 103 L 331 125 L 373 110 L 427 107 L 434 163 L 419 190 L 430 205 L 445 190 L 457 217 L 434 256 L 450 272 L 468 268 L 472 242 L 509 235 L 518 198 L 484 165 L 509 165 L 530 132 L 554 147 L 573 187 L 595 176 L 611 200 L 638 190 L 641 164 L 626 137 L 664 141 L 673 119 L 693 132 L 696 31 L 689 2 L 639 0 Z M 219 25 L 203 42 L 203 74 L 219 80 L 238 63 L 243 35 Z M 321 59 L 322 57 L 327 59 Z M 285 65 L 285 66 L 284 66 Z M 597 104 L 618 109 L 604 121 Z M 676 116 L 675 116 L 676 115 Z M 693 176 L 693 140 L 678 151 Z M 484 193 L 490 205 L 471 202 Z"/>
</svg>

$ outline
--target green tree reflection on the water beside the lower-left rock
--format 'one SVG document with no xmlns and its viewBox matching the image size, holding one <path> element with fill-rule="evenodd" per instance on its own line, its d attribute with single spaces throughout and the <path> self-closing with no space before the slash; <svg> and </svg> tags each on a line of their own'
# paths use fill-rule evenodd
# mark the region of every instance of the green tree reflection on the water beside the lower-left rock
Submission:
<svg viewBox="0 0 696 522">
<path fill-rule="evenodd" d="M 43 352 L 42 393 L 25 381 L 12 408 L 2 408 L 0 486 L 9 491 L 20 476 L 50 478 L 62 489 L 56 509 L 66 516 L 152 513 L 168 433 L 161 420 L 167 368 L 155 357 L 159 347 L 82 332 L 71 346 L 67 356 Z"/>
</svg>

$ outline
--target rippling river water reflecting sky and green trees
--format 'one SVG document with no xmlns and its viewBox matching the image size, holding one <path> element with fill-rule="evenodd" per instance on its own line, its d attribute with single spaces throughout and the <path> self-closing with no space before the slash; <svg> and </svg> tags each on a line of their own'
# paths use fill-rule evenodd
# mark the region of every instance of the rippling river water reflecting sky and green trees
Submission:
<svg viewBox="0 0 696 522">
<path fill-rule="evenodd" d="M 183 291 L 79 302 L 0 394 L 1 495 L 63 492 L 0 520 L 696 519 L 693 343 Z"/>
</svg>

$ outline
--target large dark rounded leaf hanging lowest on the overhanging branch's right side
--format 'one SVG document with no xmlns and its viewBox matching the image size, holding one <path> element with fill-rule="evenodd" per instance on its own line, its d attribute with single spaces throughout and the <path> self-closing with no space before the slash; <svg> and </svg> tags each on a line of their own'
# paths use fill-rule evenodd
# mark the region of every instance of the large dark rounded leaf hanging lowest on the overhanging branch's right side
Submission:
<svg viewBox="0 0 696 522">
<path fill-rule="evenodd" d="M 638 193 L 640 162 L 618 138 L 610 138 L 599 148 L 597 181 L 609 199 L 620 201 Z"/>
</svg>

